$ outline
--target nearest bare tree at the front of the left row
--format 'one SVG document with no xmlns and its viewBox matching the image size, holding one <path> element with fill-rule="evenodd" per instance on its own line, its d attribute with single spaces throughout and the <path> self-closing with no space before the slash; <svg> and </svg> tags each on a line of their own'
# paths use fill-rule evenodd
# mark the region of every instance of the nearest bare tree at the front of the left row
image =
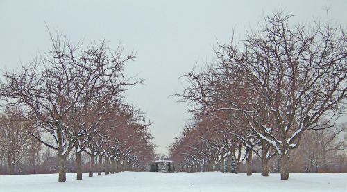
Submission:
<svg viewBox="0 0 347 192">
<path fill-rule="evenodd" d="M 7 101 L 6 107 L 21 105 L 30 114 L 30 119 L 35 120 L 37 128 L 51 135 L 54 145 L 31 134 L 44 145 L 57 150 L 58 181 L 65 182 L 66 158 L 76 146 L 78 137 L 83 137 L 90 129 L 81 127 L 76 132 L 71 128 L 71 112 L 88 97 L 84 93 L 100 85 L 112 85 L 108 87 L 109 91 L 123 90 L 129 80 L 122 72 L 124 64 L 133 60 L 135 55 L 130 53 L 123 58 L 121 48 L 112 51 L 105 41 L 83 49 L 81 44 L 74 44 L 58 32 L 50 35 L 52 49 L 49 53 L 19 71 L 4 73 L 5 82 L 1 82 L 0 95 Z"/>
</svg>

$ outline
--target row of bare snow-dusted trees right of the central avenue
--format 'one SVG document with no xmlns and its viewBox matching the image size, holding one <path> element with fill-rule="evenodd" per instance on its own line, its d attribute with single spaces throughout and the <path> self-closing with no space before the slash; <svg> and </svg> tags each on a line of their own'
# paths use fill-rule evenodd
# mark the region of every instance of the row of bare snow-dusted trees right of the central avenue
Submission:
<svg viewBox="0 0 347 192">
<path fill-rule="evenodd" d="M 269 160 L 278 157 L 281 180 L 287 180 L 303 134 L 334 127 L 345 112 L 345 28 L 329 20 L 293 25 L 290 18 L 284 12 L 264 17 L 244 40 L 220 45 L 215 62 L 185 75 L 189 84 L 177 95 L 194 118 L 170 147 L 183 166 L 223 166 L 229 155 L 237 172 L 246 159 L 251 175 L 256 155 L 266 176 Z"/>
</svg>

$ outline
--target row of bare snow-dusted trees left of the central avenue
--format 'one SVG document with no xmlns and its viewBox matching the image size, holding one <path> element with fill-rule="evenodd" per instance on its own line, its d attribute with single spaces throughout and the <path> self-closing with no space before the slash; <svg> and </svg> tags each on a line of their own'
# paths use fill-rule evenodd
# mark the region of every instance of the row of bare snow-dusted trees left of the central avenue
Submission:
<svg viewBox="0 0 347 192">
<path fill-rule="evenodd" d="M 20 116 L 12 122 L 30 124 L 23 125 L 26 132 L 56 151 L 59 182 L 66 180 L 71 152 L 76 155 L 77 179 L 82 179 L 83 152 L 90 155 L 90 177 L 96 157 L 98 175 L 103 162 L 106 173 L 114 172 L 119 164 L 142 168 L 155 150 L 150 123 L 122 98 L 126 87 L 143 81 L 124 75 L 124 65 L 135 55 L 124 56 L 121 46 L 112 50 L 105 41 L 83 47 L 59 32 L 49 34 L 52 48 L 48 53 L 22 69 L 4 73 L 0 96 L 8 109 L 5 119 L 13 113 Z M 1 129 L 18 130 L 15 124 Z M 10 145 L 19 139 L 14 137 Z M 8 162 L 15 164 L 13 158 Z"/>
</svg>

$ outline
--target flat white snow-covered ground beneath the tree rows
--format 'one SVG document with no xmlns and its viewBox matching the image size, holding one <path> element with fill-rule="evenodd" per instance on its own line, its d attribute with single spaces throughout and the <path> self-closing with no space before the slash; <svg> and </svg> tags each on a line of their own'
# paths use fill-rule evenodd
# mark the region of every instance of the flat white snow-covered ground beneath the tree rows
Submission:
<svg viewBox="0 0 347 192">
<path fill-rule="evenodd" d="M 347 174 L 291 174 L 281 181 L 278 174 L 262 177 L 234 173 L 134 173 L 101 175 L 93 178 L 67 174 L 67 182 L 58 183 L 58 175 L 0 176 L 0 191 L 347 191 Z"/>
</svg>

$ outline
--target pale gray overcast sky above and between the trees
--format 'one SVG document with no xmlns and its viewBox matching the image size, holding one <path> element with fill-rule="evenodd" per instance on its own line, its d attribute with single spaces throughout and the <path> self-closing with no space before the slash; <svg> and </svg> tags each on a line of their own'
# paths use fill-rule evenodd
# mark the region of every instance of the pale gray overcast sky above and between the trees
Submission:
<svg viewBox="0 0 347 192">
<path fill-rule="evenodd" d="M 110 41 L 116 48 L 137 51 L 126 68 L 128 76 L 145 78 L 130 89 L 135 103 L 154 122 L 151 132 L 158 152 L 178 137 L 189 118 L 185 105 L 169 97 L 182 91 L 178 79 L 198 62 L 213 59 L 213 47 L 230 40 L 232 30 L 242 38 L 245 28 L 274 10 L 295 15 L 293 22 L 325 18 L 347 26 L 346 0 L 306 1 L 3 1 L 0 0 L 0 68 L 14 69 L 50 47 L 45 22 L 71 39 L 85 43 Z M 346 119 L 345 119 L 346 120 Z"/>
</svg>

